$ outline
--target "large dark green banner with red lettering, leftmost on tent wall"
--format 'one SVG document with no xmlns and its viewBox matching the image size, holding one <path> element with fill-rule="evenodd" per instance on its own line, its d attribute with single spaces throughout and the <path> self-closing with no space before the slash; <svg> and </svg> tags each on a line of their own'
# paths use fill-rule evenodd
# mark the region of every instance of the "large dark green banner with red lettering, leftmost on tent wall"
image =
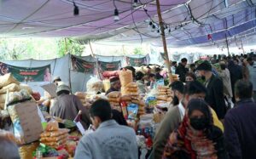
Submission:
<svg viewBox="0 0 256 159">
<path fill-rule="evenodd" d="M 50 65 L 42 67 L 18 67 L 0 62 L 0 69 L 0 74 L 2 76 L 6 73 L 12 73 L 19 82 L 51 81 Z"/>
</svg>

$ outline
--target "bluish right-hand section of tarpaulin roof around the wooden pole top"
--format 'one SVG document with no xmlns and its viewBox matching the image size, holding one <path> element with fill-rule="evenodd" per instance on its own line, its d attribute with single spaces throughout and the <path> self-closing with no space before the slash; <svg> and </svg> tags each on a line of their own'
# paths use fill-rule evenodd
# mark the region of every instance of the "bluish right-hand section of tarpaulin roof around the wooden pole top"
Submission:
<svg viewBox="0 0 256 159">
<path fill-rule="evenodd" d="M 256 1 L 192 0 L 168 12 L 163 12 L 165 23 L 171 29 L 166 32 L 168 46 L 196 44 L 214 45 L 227 37 L 253 36 L 247 31 L 255 27 Z M 153 17 L 157 21 L 157 17 Z M 133 25 L 134 26 L 134 25 Z M 104 40 L 105 42 L 151 42 L 161 46 L 160 33 L 150 31 L 148 22 L 137 23 L 137 28 Z M 138 34 L 138 32 L 140 34 Z M 212 39 L 208 39 L 211 35 Z M 236 38 L 238 39 L 238 38 Z"/>
</svg>

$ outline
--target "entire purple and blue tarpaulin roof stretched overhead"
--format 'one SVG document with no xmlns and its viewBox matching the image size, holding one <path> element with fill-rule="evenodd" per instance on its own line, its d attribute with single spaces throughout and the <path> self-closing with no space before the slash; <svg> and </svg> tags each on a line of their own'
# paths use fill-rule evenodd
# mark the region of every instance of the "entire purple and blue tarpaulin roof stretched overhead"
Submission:
<svg viewBox="0 0 256 159">
<path fill-rule="evenodd" d="M 2 0 L 1 37 L 77 37 L 79 42 L 150 42 L 161 46 L 154 0 Z M 225 37 L 254 35 L 256 0 L 160 0 L 168 46 L 213 45 Z M 113 21 L 113 10 L 119 21 Z M 247 33 L 247 31 L 251 31 Z M 253 32 L 252 32 L 253 31 Z M 209 40 L 208 35 L 212 39 Z"/>
</svg>

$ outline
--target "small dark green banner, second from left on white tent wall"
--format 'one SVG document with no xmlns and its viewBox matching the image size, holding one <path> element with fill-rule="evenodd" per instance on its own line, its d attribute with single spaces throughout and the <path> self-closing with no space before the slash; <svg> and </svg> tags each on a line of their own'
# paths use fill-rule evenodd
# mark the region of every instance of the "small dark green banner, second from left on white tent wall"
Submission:
<svg viewBox="0 0 256 159">
<path fill-rule="evenodd" d="M 71 65 L 72 71 L 79 71 L 83 73 L 95 73 L 96 62 L 88 62 L 86 60 L 82 60 L 76 58 L 75 56 L 71 56 Z"/>
</svg>

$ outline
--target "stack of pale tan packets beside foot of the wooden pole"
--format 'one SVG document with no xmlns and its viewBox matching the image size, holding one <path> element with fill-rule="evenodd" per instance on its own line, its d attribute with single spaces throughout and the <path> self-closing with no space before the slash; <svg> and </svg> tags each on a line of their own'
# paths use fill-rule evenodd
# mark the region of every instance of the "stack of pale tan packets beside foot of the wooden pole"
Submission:
<svg viewBox="0 0 256 159">
<path fill-rule="evenodd" d="M 172 91 L 168 86 L 158 86 L 157 88 L 157 104 L 162 104 L 166 102 L 171 102 L 172 101 Z"/>
</svg>

